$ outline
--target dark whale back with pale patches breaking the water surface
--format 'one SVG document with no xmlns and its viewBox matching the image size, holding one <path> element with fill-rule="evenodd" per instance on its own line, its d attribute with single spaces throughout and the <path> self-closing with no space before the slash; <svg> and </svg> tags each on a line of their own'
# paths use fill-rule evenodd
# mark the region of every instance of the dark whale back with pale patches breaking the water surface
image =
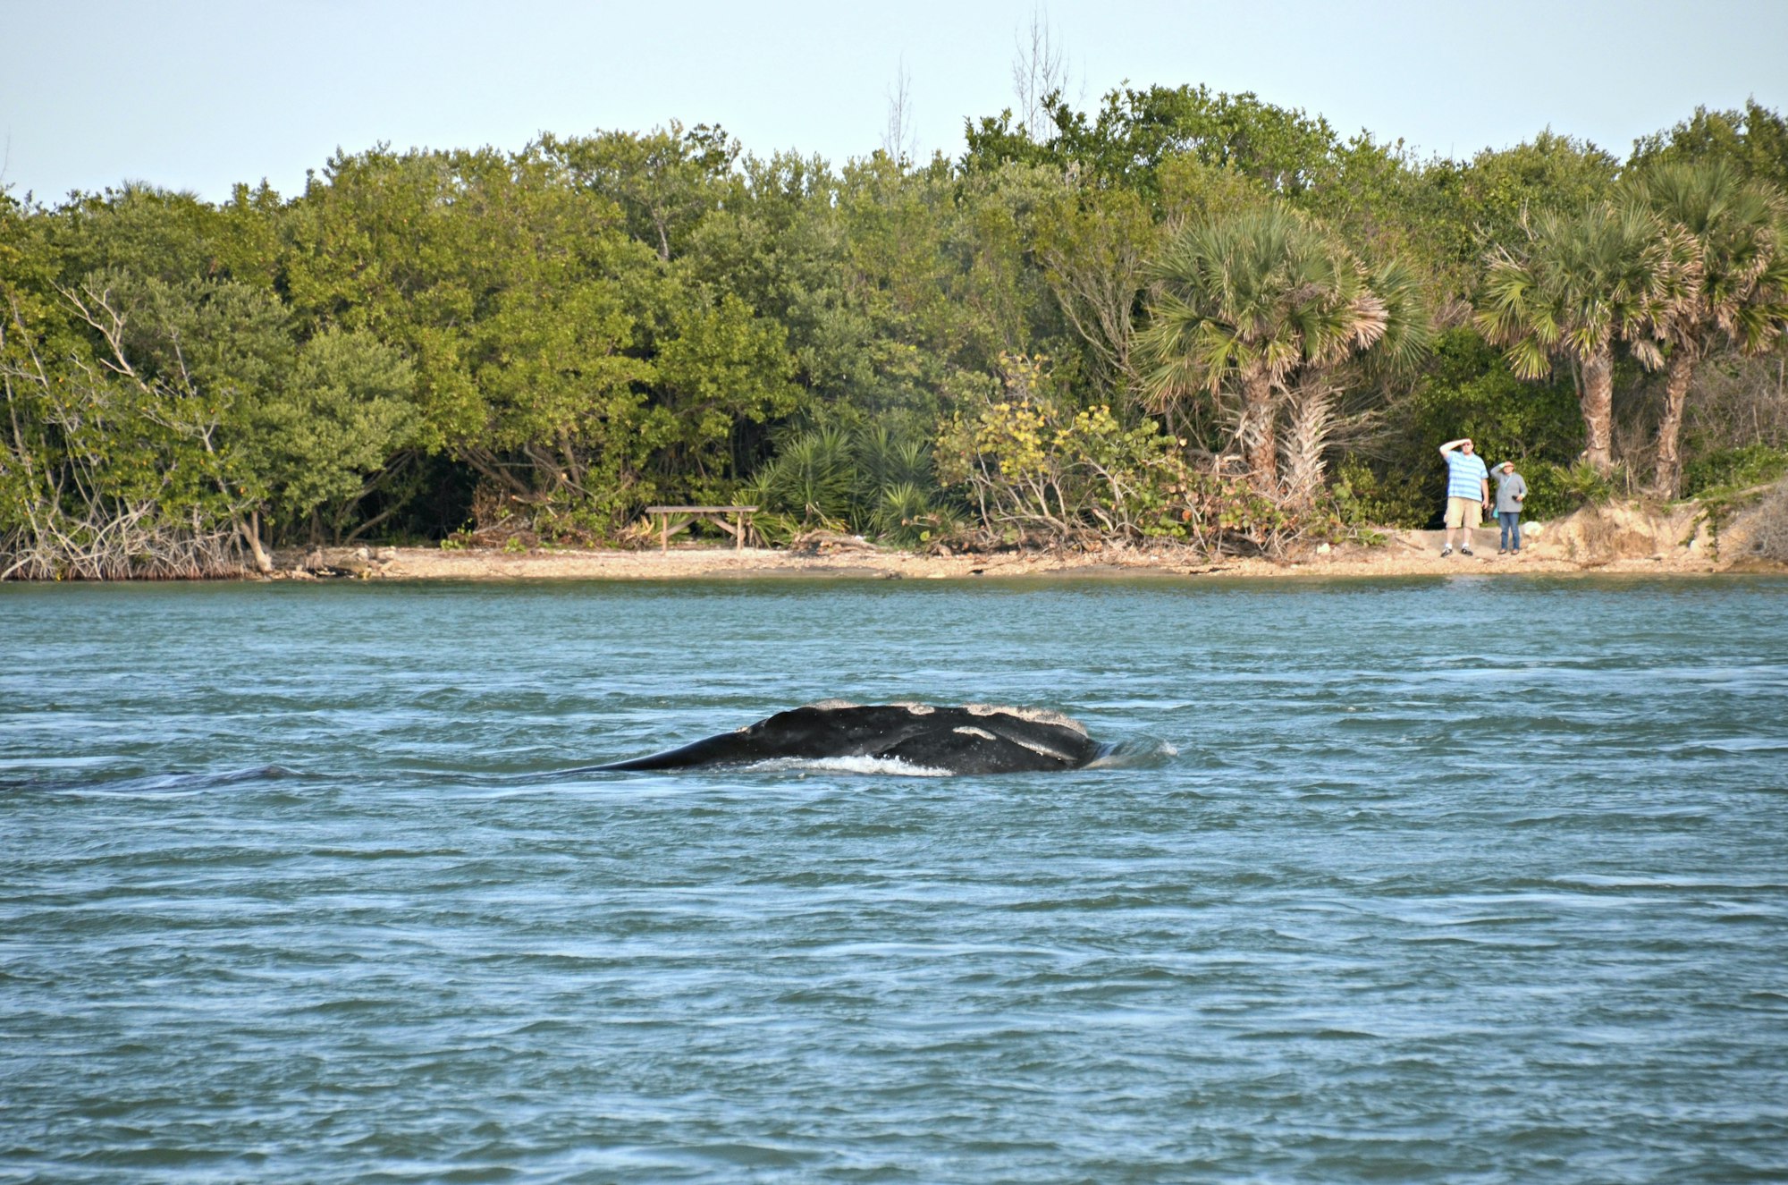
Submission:
<svg viewBox="0 0 1788 1185">
<path fill-rule="evenodd" d="M 1105 752 L 1067 716 L 1030 707 L 808 703 L 651 757 L 597 770 L 687 770 L 874 757 L 944 773 L 1078 770 Z"/>
</svg>

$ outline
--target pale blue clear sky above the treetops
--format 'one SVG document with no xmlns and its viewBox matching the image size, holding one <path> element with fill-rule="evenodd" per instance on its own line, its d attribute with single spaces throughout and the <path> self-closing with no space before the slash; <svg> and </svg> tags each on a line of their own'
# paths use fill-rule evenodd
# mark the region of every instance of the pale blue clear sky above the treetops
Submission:
<svg viewBox="0 0 1788 1185">
<path fill-rule="evenodd" d="M 1069 98 L 1253 91 L 1421 156 L 1550 127 L 1624 158 L 1697 106 L 1788 109 L 1788 0 L 0 0 L 0 186 L 302 192 L 343 149 L 520 149 L 719 124 L 747 152 L 921 156 L 1016 106 L 1039 23 Z"/>
</svg>

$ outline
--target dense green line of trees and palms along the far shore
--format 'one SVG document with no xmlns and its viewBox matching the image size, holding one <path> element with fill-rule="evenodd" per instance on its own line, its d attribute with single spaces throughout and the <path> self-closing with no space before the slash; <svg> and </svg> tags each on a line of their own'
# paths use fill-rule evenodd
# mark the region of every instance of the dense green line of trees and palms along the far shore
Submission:
<svg viewBox="0 0 1788 1185">
<path fill-rule="evenodd" d="M 1202 86 L 957 159 L 722 129 L 338 152 L 304 192 L 0 192 L 0 576 L 615 544 L 751 501 L 899 544 L 1275 550 L 1788 464 L 1788 124 L 1472 159 Z"/>
</svg>

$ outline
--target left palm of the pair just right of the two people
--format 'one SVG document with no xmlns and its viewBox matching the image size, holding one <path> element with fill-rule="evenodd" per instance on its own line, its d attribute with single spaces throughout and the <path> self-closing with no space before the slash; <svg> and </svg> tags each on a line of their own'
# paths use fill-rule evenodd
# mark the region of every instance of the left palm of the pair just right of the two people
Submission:
<svg viewBox="0 0 1788 1185">
<path fill-rule="evenodd" d="M 1654 317 L 1695 286 L 1691 247 L 1645 209 L 1593 202 L 1539 215 L 1525 243 L 1497 247 L 1488 265 L 1479 329 L 1505 347 L 1516 378 L 1547 378 L 1561 356 L 1577 365 L 1582 458 L 1611 473 L 1615 342 L 1647 369 L 1663 363 Z"/>
</svg>

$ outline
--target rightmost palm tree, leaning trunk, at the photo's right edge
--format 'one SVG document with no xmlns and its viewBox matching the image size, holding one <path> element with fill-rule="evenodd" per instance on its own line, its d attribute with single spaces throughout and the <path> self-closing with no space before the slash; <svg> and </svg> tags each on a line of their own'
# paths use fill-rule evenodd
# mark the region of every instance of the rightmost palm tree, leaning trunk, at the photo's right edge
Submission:
<svg viewBox="0 0 1788 1185">
<path fill-rule="evenodd" d="M 1683 485 L 1683 406 L 1695 365 L 1720 338 L 1756 354 L 1788 328 L 1784 202 L 1774 186 L 1743 183 L 1725 161 L 1663 165 L 1640 179 L 1634 200 L 1693 242 L 1700 270 L 1700 283 L 1654 319 L 1670 365 L 1654 489 L 1675 498 Z"/>
</svg>

